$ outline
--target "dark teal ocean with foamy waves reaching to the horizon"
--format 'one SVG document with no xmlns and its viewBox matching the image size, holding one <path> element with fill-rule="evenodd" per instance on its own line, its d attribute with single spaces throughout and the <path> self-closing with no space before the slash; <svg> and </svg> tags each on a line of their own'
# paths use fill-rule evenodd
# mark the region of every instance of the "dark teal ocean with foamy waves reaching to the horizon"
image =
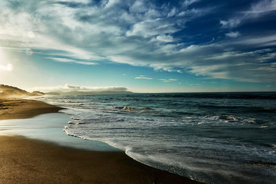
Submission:
<svg viewBox="0 0 276 184">
<path fill-rule="evenodd" d="M 43 96 L 68 135 L 205 183 L 276 183 L 276 93 Z"/>
</svg>

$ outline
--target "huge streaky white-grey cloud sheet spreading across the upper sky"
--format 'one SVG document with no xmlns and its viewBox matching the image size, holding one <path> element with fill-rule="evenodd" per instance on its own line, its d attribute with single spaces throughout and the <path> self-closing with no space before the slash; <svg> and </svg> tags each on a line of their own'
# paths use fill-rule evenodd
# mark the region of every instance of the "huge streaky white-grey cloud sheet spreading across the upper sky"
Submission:
<svg viewBox="0 0 276 184">
<path fill-rule="evenodd" d="M 241 30 L 239 37 L 237 30 L 228 30 L 266 16 L 275 10 L 275 1 L 257 1 L 232 17 L 221 17 L 221 27 L 227 29 L 222 34 L 239 39 L 221 38 L 220 28 L 206 27 L 206 32 L 212 32 L 211 42 L 197 28 L 203 17 L 216 15 L 214 4 L 206 4 L 196 0 L 1 1 L 0 45 L 18 52 L 30 48 L 64 65 L 114 62 L 206 78 L 276 81 L 275 34 Z"/>
</svg>

